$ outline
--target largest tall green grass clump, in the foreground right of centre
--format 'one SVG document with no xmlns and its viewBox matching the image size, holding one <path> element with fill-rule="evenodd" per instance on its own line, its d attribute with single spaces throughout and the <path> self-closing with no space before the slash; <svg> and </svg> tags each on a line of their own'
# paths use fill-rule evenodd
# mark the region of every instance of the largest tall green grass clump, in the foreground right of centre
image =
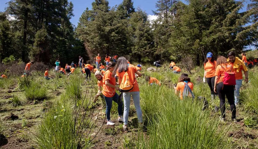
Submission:
<svg viewBox="0 0 258 149">
<path fill-rule="evenodd" d="M 147 89 L 143 87 L 144 89 Z M 202 111 L 198 100 L 180 100 L 171 89 L 141 88 L 142 110 L 148 123 L 148 137 L 140 136 L 140 149 L 226 149 L 231 148 L 225 137 L 227 129 L 219 127 L 218 117 Z M 152 113 L 152 114 L 149 114 Z M 155 115 L 154 115 L 155 114 Z"/>
</svg>

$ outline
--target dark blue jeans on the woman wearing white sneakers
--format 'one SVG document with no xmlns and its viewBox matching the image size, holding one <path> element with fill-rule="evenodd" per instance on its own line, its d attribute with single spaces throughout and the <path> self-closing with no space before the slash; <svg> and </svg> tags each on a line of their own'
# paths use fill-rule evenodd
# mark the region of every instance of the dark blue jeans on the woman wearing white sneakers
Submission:
<svg viewBox="0 0 258 149">
<path fill-rule="evenodd" d="M 110 111 L 111 111 L 111 108 L 112 108 L 112 101 L 115 101 L 117 103 L 118 97 L 119 96 L 118 96 L 117 93 L 113 97 L 106 97 L 106 96 L 104 96 L 104 98 L 106 100 L 106 105 L 107 105 L 106 116 L 107 116 L 107 120 L 108 121 L 110 120 Z M 119 116 L 122 116 L 122 107 L 123 107 L 122 103 L 118 104 L 117 111 L 118 111 L 118 115 Z"/>
</svg>

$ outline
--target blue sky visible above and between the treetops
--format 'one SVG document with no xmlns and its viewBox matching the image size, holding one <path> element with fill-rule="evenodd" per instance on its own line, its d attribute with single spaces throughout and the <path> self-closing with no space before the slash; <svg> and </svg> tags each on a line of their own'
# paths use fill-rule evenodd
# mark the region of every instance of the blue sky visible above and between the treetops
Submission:
<svg viewBox="0 0 258 149">
<path fill-rule="evenodd" d="M 91 9 L 91 3 L 94 0 L 68 0 L 74 4 L 74 17 L 72 17 L 71 22 L 75 26 L 79 21 L 80 16 L 82 15 L 83 11 L 88 7 Z M 146 11 L 147 14 L 153 15 L 152 10 L 156 10 L 155 4 L 158 0 L 134 0 L 134 7 L 140 7 L 142 10 Z M 185 0 L 182 0 L 185 3 Z M 0 0 L 0 11 L 4 11 L 5 7 L 7 6 L 5 3 L 9 2 L 9 0 Z M 109 6 L 113 7 L 122 3 L 123 0 L 109 0 Z M 245 7 L 241 11 L 246 10 L 246 6 L 249 0 L 245 2 Z"/>
</svg>

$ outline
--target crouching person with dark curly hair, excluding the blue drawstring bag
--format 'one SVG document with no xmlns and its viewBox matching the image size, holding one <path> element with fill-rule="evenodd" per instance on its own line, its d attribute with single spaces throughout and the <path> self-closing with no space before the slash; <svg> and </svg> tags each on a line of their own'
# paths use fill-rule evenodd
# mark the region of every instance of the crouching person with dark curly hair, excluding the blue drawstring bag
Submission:
<svg viewBox="0 0 258 149">
<path fill-rule="evenodd" d="M 191 82 L 191 79 L 188 77 L 188 74 L 183 73 L 179 79 L 176 87 L 174 86 L 175 89 L 175 94 L 179 95 L 180 92 L 180 99 L 183 100 L 183 92 L 186 84 L 189 86 L 191 91 L 193 90 L 193 83 Z M 190 92 L 190 91 L 189 91 Z M 192 96 L 192 94 L 188 93 L 188 96 Z"/>
</svg>

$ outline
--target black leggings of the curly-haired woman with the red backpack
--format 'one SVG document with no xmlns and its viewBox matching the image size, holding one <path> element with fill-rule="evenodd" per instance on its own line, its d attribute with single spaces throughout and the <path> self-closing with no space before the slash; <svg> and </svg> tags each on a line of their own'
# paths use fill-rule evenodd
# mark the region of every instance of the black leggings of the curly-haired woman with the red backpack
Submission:
<svg viewBox="0 0 258 149">
<path fill-rule="evenodd" d="M 236 105 L 235 105 L 235 97 L 234 97 L 234 85 L 224 85 L 223 88 L 223 83 L 220 82 L 217 84 L 217 92 L 220 98 L 220 111 L 221 111 L 221 116 L 225 118 L 225 96 L 228 98 L 228 102 L 230 104 L 230 110 L 232 114 L 232 119 L 236 118 Z"/>
</svg>

